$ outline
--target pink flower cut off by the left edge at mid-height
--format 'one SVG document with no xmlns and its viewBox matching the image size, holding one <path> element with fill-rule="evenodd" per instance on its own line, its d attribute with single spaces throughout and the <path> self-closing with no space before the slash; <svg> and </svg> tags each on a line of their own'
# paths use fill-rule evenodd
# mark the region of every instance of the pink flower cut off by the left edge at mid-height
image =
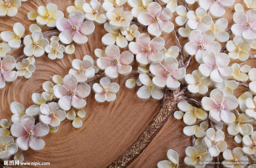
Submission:
<svg viewBox="0 0 256 168">
<path fill-rule="evenodd" d="M 13 82 L 17 79 L 18 73 L 12 71 L 16 66 L 16 60 L 12 56 L 5 56 L 3 60 L 0 59 L 0 89 L 5 87 L 5 81 Z"/>
</svg>

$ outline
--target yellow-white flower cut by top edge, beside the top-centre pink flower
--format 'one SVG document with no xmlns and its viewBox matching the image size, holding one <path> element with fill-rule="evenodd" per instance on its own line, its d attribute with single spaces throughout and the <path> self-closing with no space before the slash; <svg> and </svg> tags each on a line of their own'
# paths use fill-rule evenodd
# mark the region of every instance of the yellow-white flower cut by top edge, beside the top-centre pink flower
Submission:
<svg viewBox="0 0 256 168">
<path fill-rule="evenodd" d="M 141 12 L 145 12 L 147 5 L 153 0 L 127 0 L 128 4 L 133 7 L 132 15 L 137 17 Z"/>
</svg>

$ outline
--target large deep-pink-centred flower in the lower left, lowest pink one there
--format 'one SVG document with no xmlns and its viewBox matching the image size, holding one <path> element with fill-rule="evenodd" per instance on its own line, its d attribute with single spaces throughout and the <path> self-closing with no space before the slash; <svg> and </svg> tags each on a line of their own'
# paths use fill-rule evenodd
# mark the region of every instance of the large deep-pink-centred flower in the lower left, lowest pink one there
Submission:
<svg viewBox="0 0 256 168">
<path fill-rule="evenodd" d="M 10 129 L 16 139 L 18 147 L 22 150 L 27 150 L 30 147 L 32 150 L 39 151 L 45 146 L 45 142 L 40 138 L 49 133 L 49 126 L 37 123 L 31 115 L 25 115 L 20 120 L 20 123 L 14 123 Z"/>
</svg>

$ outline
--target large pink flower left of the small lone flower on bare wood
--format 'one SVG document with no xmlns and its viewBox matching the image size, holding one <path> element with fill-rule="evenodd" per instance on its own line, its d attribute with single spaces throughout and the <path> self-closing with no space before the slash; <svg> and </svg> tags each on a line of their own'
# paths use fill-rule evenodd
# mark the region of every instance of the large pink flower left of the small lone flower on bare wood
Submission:
<svg viewBox="0 0 256 168">
<path fill-rule="evenodd" d="M 63 85 L 54 86 L 54 95 L 59 98 L 58 103 L 63 110 L 69 110 L 71 106 L 81 109 L 86 105 L 83 98 L 90 94 L 91 87 L 87 83 L 77 86 L 77 83 L 77 77 L 68 74 L 63 78 Z"/>
</svg>

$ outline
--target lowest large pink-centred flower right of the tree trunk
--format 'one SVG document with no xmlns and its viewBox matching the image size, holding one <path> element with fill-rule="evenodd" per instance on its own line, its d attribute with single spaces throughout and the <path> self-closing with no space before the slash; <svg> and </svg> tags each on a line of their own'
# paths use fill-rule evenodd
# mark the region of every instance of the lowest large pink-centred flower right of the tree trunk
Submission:
<svg viewBox="0 0 256 168">
<path fill-rule="evenodd" d="M 209 119 L 212 122 L 232 123 L 236 120 L 236 115 L 230 110 L 234 110 L 238 106 L 238 100 L 235 96 L 229 95 L 224 98 L 224 94 L 220 89 L 214 89 L 210 93 L 210 97 L 203 97 L 201 100 L 202 108 L 209 112 Z"/>
</svg>

